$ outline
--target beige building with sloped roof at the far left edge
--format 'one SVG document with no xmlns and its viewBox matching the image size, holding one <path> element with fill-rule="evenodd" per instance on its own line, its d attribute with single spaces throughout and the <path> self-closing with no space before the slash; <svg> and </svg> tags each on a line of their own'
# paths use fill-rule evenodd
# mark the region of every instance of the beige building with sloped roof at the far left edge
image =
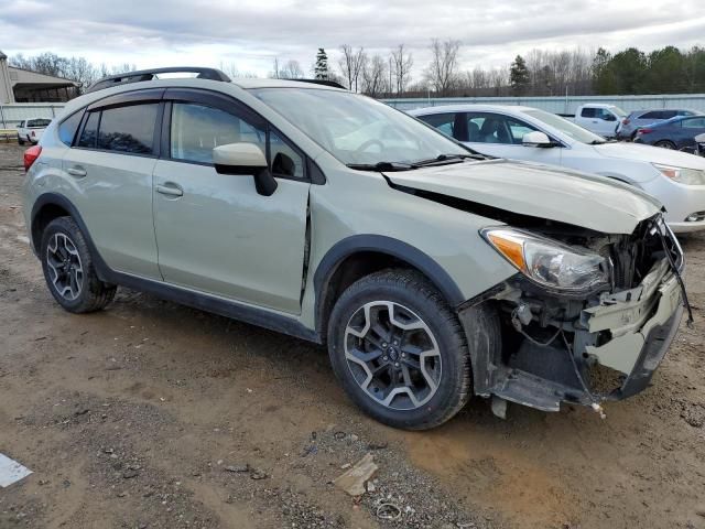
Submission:
<svg viewBox="0 0 705 529">
<path fill-rule="evenodd" d="M 0 104 L 67 101 L 77 88 L 78 83 L 69 79 L 10 66 L 0 52 Z"/>
</svg>

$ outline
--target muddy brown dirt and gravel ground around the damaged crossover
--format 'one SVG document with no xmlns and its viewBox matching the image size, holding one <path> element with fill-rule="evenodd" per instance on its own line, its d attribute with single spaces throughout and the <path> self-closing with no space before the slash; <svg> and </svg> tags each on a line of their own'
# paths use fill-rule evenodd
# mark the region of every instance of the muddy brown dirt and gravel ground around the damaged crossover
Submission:
<svg viewBox="0 0 705 529">
<path fill-rule="evenodd" d="M 705 235 L 682 241 L 696 328 L 605 420 L 475 399 L 408 433 L 305 342 L 124 289 L 64 312 L 28 246 L 21 154 L 0 143 L 0 453 L 34 473 L 0 489 L 0 528 L 705 528 Z M 332 481 L 368 452 L 356 501 Z"/>
</svg>

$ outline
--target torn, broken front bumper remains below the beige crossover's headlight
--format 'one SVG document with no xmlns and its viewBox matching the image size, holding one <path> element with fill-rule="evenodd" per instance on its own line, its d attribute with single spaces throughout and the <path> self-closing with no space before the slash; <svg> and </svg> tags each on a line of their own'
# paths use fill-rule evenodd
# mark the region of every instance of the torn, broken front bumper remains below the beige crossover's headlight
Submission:
<svg viewBox="0 0 705 529">
<path fill-rule="evenodd" d="M 500 306 L 506 292 L 498 298 Z M 562 402 L 594 406 L 642 391 L 677 332 L 683 306 L 677 278 L 664 259 L 638 287 L 604 294 L 599 304 L 582 310 L 572 335 L 561 331 L 549 344 L 512 338 L 500 323 L 502 313 L 481 306 L 459 313 L 468 333 L 475 392 L 492 397 L 500 417 L 507 401 L 558 411 Z M 501 341 L 494 339 L 492 328 L 500 325 Z"/>
</svg>

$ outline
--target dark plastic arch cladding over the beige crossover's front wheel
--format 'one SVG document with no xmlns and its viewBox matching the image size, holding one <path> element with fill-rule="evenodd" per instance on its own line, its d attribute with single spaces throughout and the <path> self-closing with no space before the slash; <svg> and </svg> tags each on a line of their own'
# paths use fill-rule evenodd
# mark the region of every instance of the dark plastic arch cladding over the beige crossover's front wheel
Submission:
<svg viewBox="0 0 705 529">
<path fill-rule="evenodd" d="M 443 267 L 417 248 L 381 235 L 354 235 L 336 242 L 314 273 L 317 331 L 325 335 L 333 305 L 347 287 L 369 273 L 392 267 L 421 272 L 454 310 L 466 301 Z"/>
</svg>

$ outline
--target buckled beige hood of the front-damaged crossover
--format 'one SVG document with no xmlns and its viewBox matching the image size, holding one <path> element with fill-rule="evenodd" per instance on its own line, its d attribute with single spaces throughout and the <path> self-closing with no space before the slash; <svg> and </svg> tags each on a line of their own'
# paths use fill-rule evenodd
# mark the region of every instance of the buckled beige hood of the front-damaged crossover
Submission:
<svg viewBox="0 0 705 529">
<path fill-rule="evenodd" d="M 394 184 L 606 234 L 631 234 L 661 204 L 620 182 L 507 160 L 389 172 Z"/>
</svg>

